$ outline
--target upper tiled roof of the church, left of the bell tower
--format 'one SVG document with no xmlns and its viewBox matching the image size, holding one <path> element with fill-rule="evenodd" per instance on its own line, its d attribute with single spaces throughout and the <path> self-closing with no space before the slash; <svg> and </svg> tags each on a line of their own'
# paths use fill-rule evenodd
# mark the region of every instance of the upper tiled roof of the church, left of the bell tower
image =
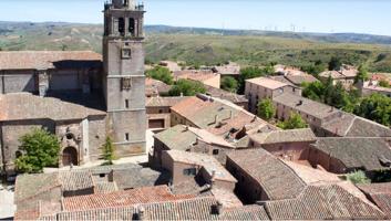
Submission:
<svg viewBox="0 0 391 221">
<path fill-rule="evenodd" d="M 102 55 L 91 51 L 0 52 L 0 70 L 100 67 Z"/>
</svg>

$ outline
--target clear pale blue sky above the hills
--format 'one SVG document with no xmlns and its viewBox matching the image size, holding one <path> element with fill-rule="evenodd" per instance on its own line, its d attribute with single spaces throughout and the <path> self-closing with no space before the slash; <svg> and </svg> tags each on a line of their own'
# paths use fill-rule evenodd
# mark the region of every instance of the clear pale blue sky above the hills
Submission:
<svg viewBox="0 0 391 221">
<path fill-rule="evenodd" d="M 0 21 L 102 23 L 104 0 L 0 0 Z M 146 24 L 391 35 L 391 0 L 144 0 Z"/>
</svg>

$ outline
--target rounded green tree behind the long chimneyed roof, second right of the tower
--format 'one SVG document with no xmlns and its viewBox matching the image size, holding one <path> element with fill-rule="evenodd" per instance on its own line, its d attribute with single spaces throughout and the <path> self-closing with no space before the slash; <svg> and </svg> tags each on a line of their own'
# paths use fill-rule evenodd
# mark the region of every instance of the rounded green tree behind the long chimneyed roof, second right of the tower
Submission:
<svg viewBox="0 0 391 221">
<path fill-rule="evenodd" d="M 203 83 L 191 81 L 191 80 L 179 80 L 176 84 L 168 91 L 169 96 L 194 96 L 198 93 L 205 94 L 206 88 Z"/>
</svg>

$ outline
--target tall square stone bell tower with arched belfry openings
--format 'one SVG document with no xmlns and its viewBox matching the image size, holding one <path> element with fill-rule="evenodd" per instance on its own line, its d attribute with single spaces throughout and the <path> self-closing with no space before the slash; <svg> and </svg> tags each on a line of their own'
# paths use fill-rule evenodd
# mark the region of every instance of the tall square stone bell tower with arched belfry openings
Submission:
<svg viewBox="0 0 391 221">
<path fill-rule="evenodd" d="M 117 157 L 145 151 L 144 13 L 133 0 L 104 6 L 103 88 Z"/>
</svg>

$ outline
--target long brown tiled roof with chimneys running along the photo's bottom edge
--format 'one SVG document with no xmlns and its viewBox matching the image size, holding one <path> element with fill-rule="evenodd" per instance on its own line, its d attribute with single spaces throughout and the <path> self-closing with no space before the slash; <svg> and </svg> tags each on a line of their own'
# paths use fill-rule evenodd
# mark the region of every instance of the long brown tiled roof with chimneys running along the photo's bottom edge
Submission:
<svg viewBox="0 0 391 221">
<path fill-rule="evenodd" d="M 213 213 L 217 200 L 213 197 L 155 202 L 126 208 L 96 209 L 90 211 L 61 212 L 41 218 L 45 221 L 65 220 L 134 220 L 140 208 L 145 220 L 268 220 L 261 206 L 227 209 L 222 214 Z"/>
</svg>

